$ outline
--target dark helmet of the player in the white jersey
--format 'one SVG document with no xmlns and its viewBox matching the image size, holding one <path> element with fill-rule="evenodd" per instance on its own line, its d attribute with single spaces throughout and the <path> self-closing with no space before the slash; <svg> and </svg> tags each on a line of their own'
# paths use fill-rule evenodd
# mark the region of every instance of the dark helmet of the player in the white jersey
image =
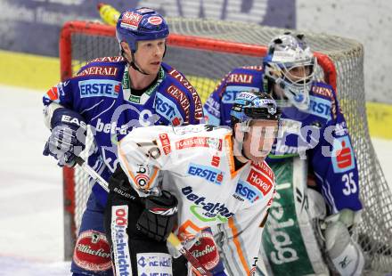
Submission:
<svg viewBox="0 0 392 276">
<path fill-rule="evenodd" d="M 230 112 L 232 128 L 237 123 L 249 125 L 251 120 L 257 119 L 279 121 L 281 114 L 282 110 L 270 94 L 254 91 L 239 93 Z"/>
</svg>

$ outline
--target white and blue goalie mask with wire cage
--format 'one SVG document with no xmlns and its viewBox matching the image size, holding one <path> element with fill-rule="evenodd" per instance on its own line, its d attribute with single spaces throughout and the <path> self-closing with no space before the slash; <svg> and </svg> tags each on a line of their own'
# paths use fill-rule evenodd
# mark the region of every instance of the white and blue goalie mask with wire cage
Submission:
<svg viewBox="0 0 392 276">
<path fill-rule="evenodd" d="M 307 110 L 309 91 L 314 80 L 316 59 L 306 45 L 303 35 L 290 33 L 274 37 L 268 45 L 268 53 L 263 59 L 265 81 L 276 84 L 286 100 L 299 110 Z M 268 86 L 271 88 L 271 86 Z M 280 104 L 281 105 L 281 104 Z"/>
</svg>

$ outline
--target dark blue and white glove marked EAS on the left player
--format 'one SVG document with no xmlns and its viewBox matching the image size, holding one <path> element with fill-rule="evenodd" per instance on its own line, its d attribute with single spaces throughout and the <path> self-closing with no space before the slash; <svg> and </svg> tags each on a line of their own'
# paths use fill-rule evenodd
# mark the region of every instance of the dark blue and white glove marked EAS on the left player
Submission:
<svg viewBox="0 0 392 276">
<path fill-rule="evenodd" d="M 51 155 L 58 166 L 75 166 L 75 157 L 86 146 L 86 121 L 73 110 L 54 110 L 51 120 L 52 134 L 45 144 L 44 155 Z"/>
</svg>

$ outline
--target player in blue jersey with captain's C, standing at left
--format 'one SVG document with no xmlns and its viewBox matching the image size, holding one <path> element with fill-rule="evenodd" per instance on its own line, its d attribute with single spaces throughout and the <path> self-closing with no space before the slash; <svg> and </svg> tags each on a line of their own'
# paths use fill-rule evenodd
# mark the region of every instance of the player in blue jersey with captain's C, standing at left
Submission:
<svg viewBox="0 0 392 276">
<path fill-rule="evenodd" d="M 45 124 L 52 134 L 44 155 L 59 166 L 74 166 L 89 126 L 94 150 L 88 164 L 108 180 L 118 165 L 117 142 L 134 127 L 199 124 L 198 93 L 181 72 L 162 62 L 168 34 L 166 21 L 149 8 L 122 12 L 116 26 L 122 56 L 97 58 L 45 94 Z M 106 200 L 107 193 L 95 184 L 78 234 L 73 275 L 112 275 L 103 229 Z"/>
</svg>

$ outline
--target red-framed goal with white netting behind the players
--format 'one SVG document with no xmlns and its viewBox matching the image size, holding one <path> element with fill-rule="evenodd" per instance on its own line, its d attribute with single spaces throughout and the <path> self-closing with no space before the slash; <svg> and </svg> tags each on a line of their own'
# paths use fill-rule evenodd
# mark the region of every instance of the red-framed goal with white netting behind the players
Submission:
<svg viewBox="0 0 392 276">
<path fill-rule="evenodd" d="M 183 72 L 206 101 L 221 77 L 239 66 L 260 65 L 270 39 L 286 29 L 220 20 L 168 18 L 165 61 Z M 338 92 L 359 169 L 363 220 L 357 237 L 372 272 L 392 271 L 392 197 L 369 135 L 363 85 L 363 46 L 355 40 L 304 33 L 318 59 L 317 77 Z M 70 21 L 61 30 L 61 80 L 87 61 L 117 56 L 115 28 Z M 90 137 L 91 138 L 91 137 Z M 91 140 L 91 139 L 90 139 Z M 91 186 L 78 168 L 63 169 L 64 254 L 70 259 Z"/>
</svg>

